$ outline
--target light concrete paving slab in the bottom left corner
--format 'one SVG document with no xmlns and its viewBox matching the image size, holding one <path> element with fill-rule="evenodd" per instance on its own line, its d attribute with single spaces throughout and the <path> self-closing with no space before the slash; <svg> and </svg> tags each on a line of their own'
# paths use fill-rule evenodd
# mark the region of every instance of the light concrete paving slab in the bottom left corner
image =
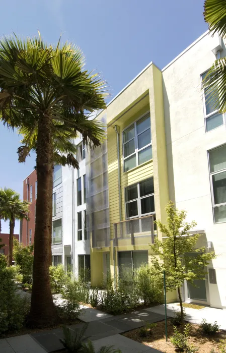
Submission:
<svg viewBox="0 0 226 353">
<path fill-rule="evenodd" d="M 7 341 L 15 353 L 46 353 L 46 351 L 30 335 L 9 337 L 7 338 Z"/>
</svg>

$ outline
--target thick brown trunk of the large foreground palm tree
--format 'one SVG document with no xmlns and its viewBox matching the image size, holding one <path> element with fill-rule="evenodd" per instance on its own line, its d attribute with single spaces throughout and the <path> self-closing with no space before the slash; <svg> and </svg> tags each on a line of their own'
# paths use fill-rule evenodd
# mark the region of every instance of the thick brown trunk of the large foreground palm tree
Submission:
<svg viewBox="0 0 226 353">
<path fill-rule="evenodd" d="M 34 236 L 33 286 L 31 309 L 27 319 L 30 327 L 53 326 L 59 322 L 53 304 L 49 277 L 50 258 L 50 179 L 52 179 L 53 148 L 51 140 L 51 121 L 40 116 L 37 136 L 37 182 L 36 224 Z"/>
</svg>

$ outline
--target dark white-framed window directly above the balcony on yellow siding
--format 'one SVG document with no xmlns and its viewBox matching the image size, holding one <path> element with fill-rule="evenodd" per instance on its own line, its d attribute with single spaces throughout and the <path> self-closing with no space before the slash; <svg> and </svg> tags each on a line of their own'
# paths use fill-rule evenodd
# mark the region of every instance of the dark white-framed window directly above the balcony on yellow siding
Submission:
<svg viewBox="0 0 226 353">
<path fill-rule="evenodd" d="M 126 218 L 155 213 L 154 179 L 146 179 L 125 188 Z"/>
</svg>

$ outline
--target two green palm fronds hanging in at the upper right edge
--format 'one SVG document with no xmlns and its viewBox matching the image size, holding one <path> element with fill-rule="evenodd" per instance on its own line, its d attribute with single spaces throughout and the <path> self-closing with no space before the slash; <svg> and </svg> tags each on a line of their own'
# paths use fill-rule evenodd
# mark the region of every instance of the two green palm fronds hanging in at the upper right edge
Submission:
<svg viewBox="0 0 226 353">
<path fill-rule="evenodd" d="M 209 30 L 222 37 L 226 35 L 226 2 L 225 0 L 205 0 L 204 19 Z M 226 112 L 226 58 L 218 58 L 203 80 L 203 88 L 208 94 L 209 103 L 221 113 Z"/>
</svg>

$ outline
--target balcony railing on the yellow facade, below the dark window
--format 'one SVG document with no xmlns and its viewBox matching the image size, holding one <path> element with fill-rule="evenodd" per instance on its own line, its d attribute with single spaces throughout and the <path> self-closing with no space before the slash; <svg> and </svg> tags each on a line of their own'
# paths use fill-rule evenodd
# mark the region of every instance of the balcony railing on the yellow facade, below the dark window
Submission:
<svg viewBox="0 0 226 353">
<path fill-rule="evenodd" d="M 113 223 L 115 246 L 154 244 L 154 216 L 144 216 Z M 129 244 L 128 244 L 129 240 Z"/>
</svg>

